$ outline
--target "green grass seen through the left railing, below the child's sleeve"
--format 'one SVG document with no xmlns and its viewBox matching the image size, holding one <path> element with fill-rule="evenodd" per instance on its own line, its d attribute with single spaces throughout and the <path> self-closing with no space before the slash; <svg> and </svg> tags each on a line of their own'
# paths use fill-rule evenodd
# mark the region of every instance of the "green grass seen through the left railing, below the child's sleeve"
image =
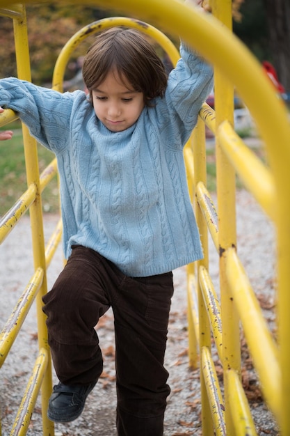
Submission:
<svg viewBox="0 0 290 436">
<path fill-rule="evenodd" d="M 27 189 L 20 123 L 13 123 L 6 128 L 13 130 L 14 135 L 13 139 L 0 142 L 0 216 L 3 216 Z M 53 153 L 38 145 L 40 173 L 53 158 Z M 44 212 L 57 212 L 58 204 L 58 183 L 54 177 L 42 192 L 42 208 Z"/>
</svg>

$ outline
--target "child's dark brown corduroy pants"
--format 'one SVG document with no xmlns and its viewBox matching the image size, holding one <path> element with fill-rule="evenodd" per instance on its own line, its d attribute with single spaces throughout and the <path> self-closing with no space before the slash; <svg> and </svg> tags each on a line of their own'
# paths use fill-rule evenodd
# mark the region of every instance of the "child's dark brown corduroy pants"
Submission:
<svg viewBox="0 0 290 436">
<path fill-rule="evenodd" d="M 127 277 L 103 256 L 74 246 L 43 297 L 54 368 L 63 384 L 89 384 L 103 369 L 95 326 L 112 307 L 118 436 L 161 436 L 170 393 L 163 366 L 172 272 Z"/>
</svg>

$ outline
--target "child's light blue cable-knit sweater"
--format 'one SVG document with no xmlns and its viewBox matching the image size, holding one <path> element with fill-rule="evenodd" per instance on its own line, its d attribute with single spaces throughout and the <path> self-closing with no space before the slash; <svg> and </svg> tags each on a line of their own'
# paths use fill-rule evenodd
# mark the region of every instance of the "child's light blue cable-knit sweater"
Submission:
<svg viewBox="0 0 290 436">
<path fill-rule="evenodd" d="M 180 53 L 165 97 L 123 132 L 107 130 L 81 91 L 0 81 L 0 105 L 19 112 L 58 159 L 67 258 L 81 244 L 131 277 L 202 258 L 183 147 L 211 90 L 212 70 L 184 47 Z"/>
</svg>

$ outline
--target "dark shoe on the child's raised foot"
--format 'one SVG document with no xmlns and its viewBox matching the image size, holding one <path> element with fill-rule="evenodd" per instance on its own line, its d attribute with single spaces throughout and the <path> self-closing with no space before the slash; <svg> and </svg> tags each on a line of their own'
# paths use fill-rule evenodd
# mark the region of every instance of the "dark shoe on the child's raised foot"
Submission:
<svg viewBox="0 0 290 436">
<path fill-rule="evenodd" d="M 86 398 L 95 384 L 56 384 L 49 398 L 48 418 L 54 422 L 74 421 L 83 412 Z"/>
</svg>

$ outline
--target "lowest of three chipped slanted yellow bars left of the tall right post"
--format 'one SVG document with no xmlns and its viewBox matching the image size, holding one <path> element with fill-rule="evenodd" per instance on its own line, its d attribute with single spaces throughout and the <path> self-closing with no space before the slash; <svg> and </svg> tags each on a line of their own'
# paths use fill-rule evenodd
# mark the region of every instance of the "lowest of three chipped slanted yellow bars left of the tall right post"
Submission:
<svg viewBox="0 0 290 436">
<path fill-rule="evenodd" d="M 223 404 L 223 397 L 218 384 L 214 361 L 211 359 L 211 352 L 207 347 L 202 347 L 201 365 L 207 388 L 207 396 L 209 398 L 211 419 L 214 423 L 214 435 L 226 436 L 229 433 L 227 433 L 225 427 L 225 406 Z"/>
</svg>

